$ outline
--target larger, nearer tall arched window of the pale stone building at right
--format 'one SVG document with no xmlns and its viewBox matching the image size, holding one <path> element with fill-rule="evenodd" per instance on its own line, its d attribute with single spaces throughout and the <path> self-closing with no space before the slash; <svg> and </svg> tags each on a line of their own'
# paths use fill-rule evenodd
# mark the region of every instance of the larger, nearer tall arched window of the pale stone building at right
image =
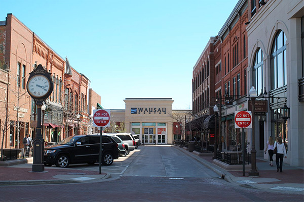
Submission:
<svg viewBox="0 0 304 202">
<path fill-rule="evenodd" d="M 271 53 L 271 89 L 276 89 L 287 84 L 286 36 L 282 30 L 276 34 Z"/>
</svg>

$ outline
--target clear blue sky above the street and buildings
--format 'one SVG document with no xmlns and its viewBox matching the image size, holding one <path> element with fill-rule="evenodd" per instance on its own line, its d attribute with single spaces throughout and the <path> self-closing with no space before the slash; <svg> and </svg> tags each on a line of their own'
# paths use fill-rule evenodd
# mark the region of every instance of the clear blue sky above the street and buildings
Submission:
<svg viewBox="0 0 304 202">
<path fill-rule="evenodd" d="M 171 97 L 192 109 L 192 71 L 237 0 L 0 0 L 0 21 L 15 15 L 91 80 L 106 109 L 126 97 Z"/>
</svg>

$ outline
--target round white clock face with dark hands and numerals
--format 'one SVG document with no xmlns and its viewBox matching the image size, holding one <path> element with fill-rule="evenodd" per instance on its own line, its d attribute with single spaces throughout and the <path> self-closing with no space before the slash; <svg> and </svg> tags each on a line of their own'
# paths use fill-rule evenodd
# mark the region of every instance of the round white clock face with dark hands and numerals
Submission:
<svg viewBox="0 0 304 202">
<path fill-rule="evenodd" d="M 44 75 L 35 75 L 27 83 L 28 93 L 34 97 L 43 97 L 50 90 L 50 81 Z"/>
</svg>

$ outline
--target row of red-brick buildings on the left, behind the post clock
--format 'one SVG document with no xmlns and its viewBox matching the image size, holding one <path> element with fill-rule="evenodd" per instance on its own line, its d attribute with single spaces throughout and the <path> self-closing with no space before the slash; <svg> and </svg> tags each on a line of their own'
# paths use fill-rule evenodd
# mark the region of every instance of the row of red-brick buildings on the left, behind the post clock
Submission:
<svg viewBox="0 0 304 202">
<path fill-rule="evenodd" d="M 22 148 L 25 133 L 35 136 L 36 109 L 27 94 L 26 82 L 29 72 L 39 64 L 52 74 L 54 84 L 53 93 L 45 102 L 43 137 L 58 142 L 77 134 L 77 129 L 80 133 L 88 131 L 90 80 L 71 68 L 67 60 L 14 15 L 8 14 L 5 21 L 0 21 L 0 108 L 3 112 L 0 113 L 0 144 L 4 148 Z"/>
</svg>

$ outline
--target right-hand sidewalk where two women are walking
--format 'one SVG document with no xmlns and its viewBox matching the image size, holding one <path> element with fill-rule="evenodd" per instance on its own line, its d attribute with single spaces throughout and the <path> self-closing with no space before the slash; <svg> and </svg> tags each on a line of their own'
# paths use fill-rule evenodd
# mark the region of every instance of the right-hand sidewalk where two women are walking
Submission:
<svg viewBox="0 0 304 202">
<path fill-rule="evenodd" d="M 289 166 L 283 161 L 283 173 L 280 173 L 277 172 L 277 166 L 275 162 L 273 167 L 271 167 L 268 161 L 262 159 L 261 157 L 257 157 L 256 166 L 259 172 L 259 177 L 248 177 L 249 171 L 245 171 L 245 176 L 243 176 L 243 170 L 226 171 L 221 167 L 214 165 L 212 163 L 213 153 L 205 153 L 202 155 L 197 151 L 189 152 L 185 147 L 174 147 L 201 162 L 203 165 L 219 174 L 219 176 L 222 176 L 222 178 L 224 178 L 226 181 L 235 183 L 236 185 L 248 188 L 287 191 L 304 194 L 303 167 Z"/>
</svg>

